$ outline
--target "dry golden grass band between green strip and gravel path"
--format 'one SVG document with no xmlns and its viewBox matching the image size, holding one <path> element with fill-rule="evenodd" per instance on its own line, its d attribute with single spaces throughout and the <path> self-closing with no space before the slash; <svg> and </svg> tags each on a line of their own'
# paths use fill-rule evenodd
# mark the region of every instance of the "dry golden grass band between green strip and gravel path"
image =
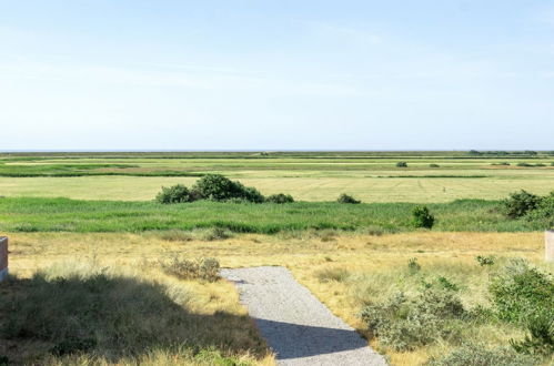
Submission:
<svg viewBox="0 0 554 366">
<path fill-rule="evenodd" d="M 75 233 L 14 233 L 10 234 L 10 270 L 28 276 L 38 268 L 63 261 L 93 260 L 102 265 L 141 270 L 148 261 L 175 254 L 190 257 L 216 257 L 224 267 L 283 265 L 295 278 L 309 287 L 338 316 L 355 328 L 364 325 L 357 317 L 361 306 L 369 301 L 386 297 L 395 284 L 395 274 L 404 271 L 407 261 L 417 257 L 430 275 L 446 275 L 466 289 L 462 299 L 475 305 L 485 295 L 486 268 L 477 265 L 476 255 L 525 257 L 541 266 L 542 233 L 434 233 L 415 232 L 393 235 L 359 235 L 304 233 L 275 236 L 239 235 L 224 241 L 203 242 L 197 238 L 168 241 L 163 234 L 75 234 Z M 350 273 L 347 281 L 320 282 L 321 271 L 339 268 Z M 140 271 L 139 271 L 140 272 Z M 138 272 L 138 273 L 139 273 Z M 168 279 L 164 281 L 177 281 Z M 223 281 L 214 284 L 188 285 L 197 294 L 195 309 L 200 313 L 225 311 L 244 314 L 234 288 Z M 506 329 L 483 326 L 482 337 L 491 344 L 506 344 Z M 430 355 L 449 350 L 447 345 L 435 345 L 411 353 L 386 352 L 393 365 L 419 365 Z M 259 360 L 269 363 L 268 358 Z"/>
</svg>

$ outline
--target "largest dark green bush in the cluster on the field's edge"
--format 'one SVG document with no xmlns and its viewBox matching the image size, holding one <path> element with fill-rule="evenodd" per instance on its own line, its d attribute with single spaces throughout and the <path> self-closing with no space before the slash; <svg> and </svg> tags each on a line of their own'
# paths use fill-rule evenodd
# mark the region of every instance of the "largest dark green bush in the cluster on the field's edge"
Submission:
<svg viewBox="0 0 554 366">
<path fill-rule="evenodd" d="M 254 187 L 244 186 L 221 174 L 207 174 L 192 186 L 194 199 L 210 201 L 229 201 L 243 199 L 249 202 L 262 203 L 263 195 Z"/>
</svg>

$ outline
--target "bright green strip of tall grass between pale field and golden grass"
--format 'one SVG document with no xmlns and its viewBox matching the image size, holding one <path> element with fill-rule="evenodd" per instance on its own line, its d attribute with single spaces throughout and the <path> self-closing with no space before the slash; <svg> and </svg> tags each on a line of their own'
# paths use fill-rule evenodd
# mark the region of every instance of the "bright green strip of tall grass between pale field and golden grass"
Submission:
<svg viewBox="0 0 554 366">
<path fill-rule="evenodd" d="M 511 221 L 493 201 L 464 200 L 429 205 L 439 231 L 521 232 L 533 223 Z M 77 201 L 69 199 L 0 199 L 0 230 L 8 232 L 143 232 L 226 228 L 238 233 L 274 234 L 284 231 L 380 227 L 413 231 L 409 203 L 341 205 L 296 202 L 234 204 L 194 202 L 161 205 L 154 202 Z"/>
</svg>

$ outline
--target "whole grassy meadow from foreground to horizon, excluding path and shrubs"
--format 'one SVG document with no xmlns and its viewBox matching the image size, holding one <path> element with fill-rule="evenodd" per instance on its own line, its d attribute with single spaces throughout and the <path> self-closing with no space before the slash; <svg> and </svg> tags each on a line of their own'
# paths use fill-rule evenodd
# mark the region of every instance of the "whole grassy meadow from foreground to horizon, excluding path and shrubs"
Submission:
<svg viewBox="0 0 554 366">
<path fill-rule="evenodd" d="M 542 261 L 545 227 L 506 218 L 498 200 L 554 191 L 552 162 L 552 152 L 0 154 L 11 272 L 0 365 L 272 365 L 234 287 L 167 272 L 175 258 L 286 266 L 392 365 L 425 365 L 470 342 L 510 347 L 526 331 L 482 315 L 492 278 L 511 258 L 554 266 Z M 296 202 L 153 201 L 208 173 Z M 362 203 L 333 202 L 341 193 Z M 435 215 L 432 230 L 412 226 L 415 204 Z M 361 316 L 397 293 L 444 286 L 465 317 L 425 345 L 399 349 Z"/>
</svg>

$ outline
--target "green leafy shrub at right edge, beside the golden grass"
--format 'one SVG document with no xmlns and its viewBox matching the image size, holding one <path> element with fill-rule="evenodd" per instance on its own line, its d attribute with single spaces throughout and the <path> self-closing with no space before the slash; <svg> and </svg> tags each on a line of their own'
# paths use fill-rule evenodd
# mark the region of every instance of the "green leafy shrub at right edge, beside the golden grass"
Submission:
<svg viewBox="0 0 554 366">
<path fill-rule="evenodd" d="M 497 316 L 525 323 L 543 312 L 554 314 L 554 279 L 522 258 L 512 260 L 495 274 L 488 286 Z"/>
</svg>

